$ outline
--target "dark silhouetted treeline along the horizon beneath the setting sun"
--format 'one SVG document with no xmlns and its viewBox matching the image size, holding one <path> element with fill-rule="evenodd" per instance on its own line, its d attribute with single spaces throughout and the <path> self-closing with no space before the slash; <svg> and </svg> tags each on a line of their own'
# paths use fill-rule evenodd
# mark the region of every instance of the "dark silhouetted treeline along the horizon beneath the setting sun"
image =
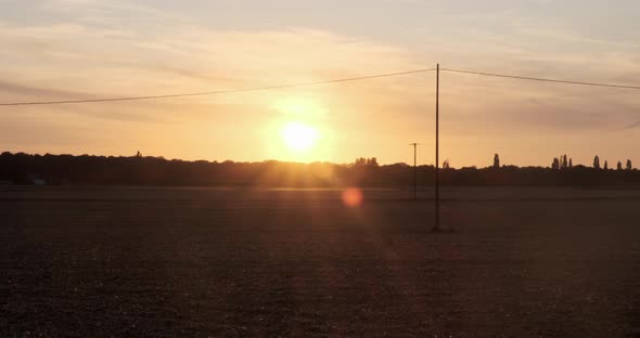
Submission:
<svg viewBox="0 0 640 338">
<path fill-rule="evenodd" d="M 564 158 L 552 167 L 500 166 L 441 169 L 445 185 L 639 185 L 640 171 L 571 166 Z M 566 162 L 566 165 L 565 165 Z M 407 164 L 380 166 L 375 158 L 353 164 L 184 161 L 162 157 L 29 155 L 2 153 L 2 184 L 204 185 L 268 187 L 410 187 L 414 168 Z M 434 184 L 434 167 L 415 168 L 419 185 Z"/>
</svg>

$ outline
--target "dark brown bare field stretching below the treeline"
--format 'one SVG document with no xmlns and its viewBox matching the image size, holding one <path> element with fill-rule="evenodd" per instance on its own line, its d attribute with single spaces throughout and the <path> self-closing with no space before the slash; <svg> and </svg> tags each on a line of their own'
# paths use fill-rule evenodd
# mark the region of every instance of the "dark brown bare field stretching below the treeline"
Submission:
<svg viewBox="0 0 640 338">
<path fill-rule="evenodd" d="M 0 337 L 640 337 L 640 190 L 0 188 Z"/>
</svg>

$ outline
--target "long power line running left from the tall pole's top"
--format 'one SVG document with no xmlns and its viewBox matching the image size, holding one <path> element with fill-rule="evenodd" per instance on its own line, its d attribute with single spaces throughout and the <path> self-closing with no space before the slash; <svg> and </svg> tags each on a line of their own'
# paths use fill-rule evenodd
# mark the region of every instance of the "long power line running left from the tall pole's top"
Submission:
<svg viewBox="0 0 640 338">
<path fill-rule="evenodd" d="M 318 84 L 327 84 L 327 83 L 369 80 L 369 79 L 394 77 L 394 76 L 410 75 L 410 74 L 418 74 L 418 73 L 427 73 L 427 72 L 434 72 L 434 70 L 435 70 L 435 68 L 415 69 L 415 70 L 408 70 L 408 72 L 377 74 L 377 75 L 342 78 L 342 79 L 333 79 L 333 80 L 324 80 L 324 81 L 315 81 L 315 82 L 302 82 L 302 83 L 292 83 L 292 84 L 254 87 L 254 88 L 244 88 L 244 89 L 219 90 L 219 91 L 195 92 L 195 93 L 181 93 L 181 94 L 141 95 L 141 96 L 128 96 L 128 98 L 106 98 L 106 99 L 87 99 L 87 100 L 67 100 L 67 101 L 12 102 L 12 103 L 0 103 L 0 106 L 77 104 L 77 103 L 95 103 L 95 102 L 137 101 L 137 100 L 155 100 L 155 99 L 169 99 L 169 98 L 185 98 L 185 96 L 203 96 L 203 95 L 241 93 L 241 92 L 252 92 L 252 91 L 274 90 L 274 89 L 284 89 L 284 88 L 295 88 L 295 87 L 318 86 Z"/>
</svg>

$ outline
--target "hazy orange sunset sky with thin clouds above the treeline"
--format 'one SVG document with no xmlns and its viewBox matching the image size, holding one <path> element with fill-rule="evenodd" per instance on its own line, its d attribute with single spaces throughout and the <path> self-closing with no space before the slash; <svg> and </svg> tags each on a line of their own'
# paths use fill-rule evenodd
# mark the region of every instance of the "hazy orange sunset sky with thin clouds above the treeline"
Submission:
<svg viewBox="0 0 640 338">
<path fill-rule="evenodd" d="M 0 103 L 243 89 L 437 63 L 640 86 L 637 13 L 636 0 L 0 0 Z M 433 164 L 434 117 L 435 74 L 425 73 L 0 106 L 0 151 L 393 164 L 411 162 L 418 142 L 419 164 Z M 561 154 L 638 166 L 640 92 L 443 73 L 440 136 L 452 167 L 485 167 L 495 153 L 519 166 L 549 166 Z"/>
</svg>

